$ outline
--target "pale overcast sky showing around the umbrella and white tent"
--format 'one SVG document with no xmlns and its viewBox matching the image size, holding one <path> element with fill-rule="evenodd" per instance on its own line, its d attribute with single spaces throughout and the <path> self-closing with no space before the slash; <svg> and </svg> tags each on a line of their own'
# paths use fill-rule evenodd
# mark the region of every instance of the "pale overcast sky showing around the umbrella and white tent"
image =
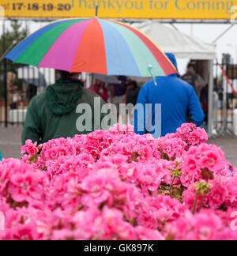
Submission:
<svg viewBox="0 0 237 256">
<path fill-rule="evenodd" d="M 44 22 L 32 22 L 28 21 L 28 27 L 30 32 L 36 31 L 42 27 Z M 25 21 L 24 21 L 25 25 Z M 230 24 L 175 24 L 180 31 L 186 32 L 186 34 L 200 38 L 203 41 L 212 43 L 222 32 L 224 32 Z M 9 28 L 9 21 L 7 22 L 7 28 Z M 2 21 L 0 26 L 0 34 L 2 35 Z M 220 40 L 217 42 L 217 55 L 221 59 L 223 53 L 231 54 L 234 61 L 237 62 L 237 25 L 231 28 Z M 186 63 L 188 60 L 179 60 L 180 73 L 184 73 L 186 70 Z"/>
</svg>

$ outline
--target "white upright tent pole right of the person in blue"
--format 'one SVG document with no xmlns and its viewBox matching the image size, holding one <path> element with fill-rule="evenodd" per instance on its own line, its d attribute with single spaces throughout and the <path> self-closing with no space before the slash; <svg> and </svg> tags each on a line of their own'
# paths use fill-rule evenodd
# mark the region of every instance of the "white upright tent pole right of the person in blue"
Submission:
<svg viewBox="0 0 237 256">
<path fill-rule="evenodd" d="M 209 61 L 209 116 L 208 130 L 209 137 L 213 136 L 213 91 L 214 91 L 214 75 L 213 75 L 213 60 Z"/>
</svg>

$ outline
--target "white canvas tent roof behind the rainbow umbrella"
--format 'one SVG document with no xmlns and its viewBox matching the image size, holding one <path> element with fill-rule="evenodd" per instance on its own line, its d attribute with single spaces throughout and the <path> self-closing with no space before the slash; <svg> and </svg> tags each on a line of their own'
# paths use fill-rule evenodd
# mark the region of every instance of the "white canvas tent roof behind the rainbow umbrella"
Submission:
<svg viewBox="0 0 237 256">
<path fill-rule="evenodd" d="M 212 60 L 216 58 L 216 46 L 205 43 L 183 32 L 169 28 L 158 21 L 134 24 L 149 36 L 164 52 L 175 54 L 176 58 Z"/>
</svg>

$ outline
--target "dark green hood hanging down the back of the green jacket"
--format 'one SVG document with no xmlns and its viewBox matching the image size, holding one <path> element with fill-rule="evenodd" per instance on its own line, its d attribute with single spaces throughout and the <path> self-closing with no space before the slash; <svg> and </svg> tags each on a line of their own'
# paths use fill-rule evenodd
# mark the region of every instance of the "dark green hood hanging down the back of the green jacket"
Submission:
<svg viewBox="0 0 237 256">
<path fill-rule="evenodd" d="M 82 95 L 81 81 L 60 78 L 46 91 L 46 104 L 55 115 L 67 115 L 77 107 Z"/>
</svg>

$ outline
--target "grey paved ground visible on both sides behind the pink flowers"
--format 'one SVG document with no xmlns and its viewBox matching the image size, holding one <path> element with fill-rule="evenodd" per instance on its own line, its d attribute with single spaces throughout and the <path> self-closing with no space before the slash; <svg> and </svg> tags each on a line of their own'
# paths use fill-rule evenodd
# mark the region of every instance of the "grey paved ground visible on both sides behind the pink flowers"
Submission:
<svg viewBox="0 0 237 256">
<path fill-rule="evenodd" d="M 0 126 L 0 149 L 4 158 L 21 157 L 21 132 L 22 126 L 8 129 Z M 231 164 L 237 167 L 237 137 L 220 137 L 209 142 L 220 146 Z"/>
</svg>

